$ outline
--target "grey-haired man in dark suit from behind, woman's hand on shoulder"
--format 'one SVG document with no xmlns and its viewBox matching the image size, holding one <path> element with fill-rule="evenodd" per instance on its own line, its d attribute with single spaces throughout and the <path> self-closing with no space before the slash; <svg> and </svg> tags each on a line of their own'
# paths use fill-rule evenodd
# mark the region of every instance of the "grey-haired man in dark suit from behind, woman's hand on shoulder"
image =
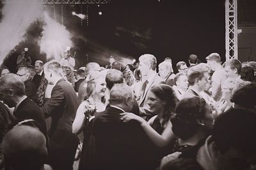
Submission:
<svg viewBox="0 0 256 170">
<path fill-rule="evenodd" d="M 131 111 L 132 102 L 132 89 L 124 83 L 115 84 L 106 111 L 95 114 L 95 169 L 150 168 L 152 147 L 140 123 L 121 120 L 120 113 Z"/>
</svg>

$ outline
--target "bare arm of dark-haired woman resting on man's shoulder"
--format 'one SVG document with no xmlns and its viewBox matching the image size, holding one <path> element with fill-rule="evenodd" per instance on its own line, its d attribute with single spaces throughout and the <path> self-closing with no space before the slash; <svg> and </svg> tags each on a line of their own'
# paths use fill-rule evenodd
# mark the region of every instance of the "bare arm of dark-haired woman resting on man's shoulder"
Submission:
<svg viewBox="0 0 256 170">
<path fill-rule="evenodd" d="M 151 141 L 158 147 L 163 147 L 168 145 L 172 139 L 175 138 L 175 135 L 172 132 L 172 123 L 168 121 L 166 128 L 163 131 L 163 134 L 158 134 L 146 120 L 143 118 L 134 115 L 133 113 L 122 113 L 122 120 L 124 122 L 129 122 L 130 120 L 137 120 L 140 122 L 141 127 L 146 132 L 147 136 Z"/>
</svg>

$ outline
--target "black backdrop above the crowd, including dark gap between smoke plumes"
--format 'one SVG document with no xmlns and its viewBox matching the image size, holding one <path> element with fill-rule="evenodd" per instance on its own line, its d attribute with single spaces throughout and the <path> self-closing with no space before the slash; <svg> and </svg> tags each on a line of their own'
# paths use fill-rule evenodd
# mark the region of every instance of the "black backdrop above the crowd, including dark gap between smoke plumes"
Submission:
<svg viewBox="0 0 256 170">
<path fill-rule="evenodd" d="M 52 4 L 46 5 L 52 14 Z M 88 9 L 88 13 L 87 13 Z M 117 60 L 138 59 L 144 53 L 152 53 L 158 64 L 171 57 L 173 68 L 180 60 L 188 62 L 191 53 L 202 62 L 212 52 L 218 52 L 225 61 L 225 1 L 223 0 L 111 0 L 108 4 L 63 4 L 64 25 L 74 37 L 76 67 L 87 62 L 108 64 L 110 55 Z M 88 14 L 87 20 L 73 16 Z M 102 11 L 102 15 L 99 15 Z M 57 20 L 61 22 L 61 5 L 56 4 Z M 27 41 L 15 47 L 4 60 L 13 67 L 20 50 L 29 47 L 33 62 L 40 59 L 37 41 L 41 36 L 42 23 L 31 25 Z M 87 57 L 88 56 L 88 57 Z"/>
</svg>

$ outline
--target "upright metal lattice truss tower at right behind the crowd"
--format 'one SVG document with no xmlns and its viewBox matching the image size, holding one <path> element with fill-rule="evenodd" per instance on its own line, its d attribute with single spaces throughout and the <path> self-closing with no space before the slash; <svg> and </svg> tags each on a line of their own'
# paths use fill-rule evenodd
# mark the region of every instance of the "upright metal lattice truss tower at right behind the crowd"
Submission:
<svg viewBox="0 0 256 170">
<path fill-rule="evenodd" d="M 226 0 L 226 60 L 237 59 L 237 0 Z"/>
</svg>

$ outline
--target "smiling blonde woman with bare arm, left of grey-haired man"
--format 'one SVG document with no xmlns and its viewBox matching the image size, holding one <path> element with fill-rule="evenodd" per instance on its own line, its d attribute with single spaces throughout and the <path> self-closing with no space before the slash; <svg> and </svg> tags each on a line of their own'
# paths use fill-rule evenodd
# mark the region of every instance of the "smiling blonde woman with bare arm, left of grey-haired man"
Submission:
<svg viewBox="0 0 256 170">
<path fill-rule="evenodd" d="M 74 134 L 79 134 L 83 130 L 83 148 L 79 161 L 79 169 L 90 169 L 95 159 L 95 138 L 92 135 L 92 122 L 97 112 L 106 109 L 106 81 L 103 76 L 92 78 L 84 86 L 86 96 L 79 105 L 76 112 L 76 118 L 72 125 Z"/>
</svg>

